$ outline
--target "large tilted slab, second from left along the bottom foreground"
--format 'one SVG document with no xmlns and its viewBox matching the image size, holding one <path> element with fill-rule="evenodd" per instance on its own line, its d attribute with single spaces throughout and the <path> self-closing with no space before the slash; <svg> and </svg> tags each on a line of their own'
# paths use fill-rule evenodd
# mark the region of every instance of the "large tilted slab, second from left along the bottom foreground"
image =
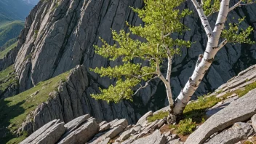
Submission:
<svg viewBox="0 0 256 144">
<path fill-rule="evenodd" d="M 81 124 L 79 128 L 63 137 L 59 144 L 84 144 L 90 140 L 99 131 L 99 129 L 100 127 L 95 119 L 84 122 L 84 124 Z"/>
</svg>

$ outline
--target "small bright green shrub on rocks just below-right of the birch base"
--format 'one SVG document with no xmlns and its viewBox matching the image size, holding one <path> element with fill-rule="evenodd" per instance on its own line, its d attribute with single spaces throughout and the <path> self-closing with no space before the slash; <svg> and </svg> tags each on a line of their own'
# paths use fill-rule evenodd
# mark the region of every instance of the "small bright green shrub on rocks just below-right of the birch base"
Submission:
<svg viewBox="0 0 256 144">
<path fill-rule="evenodd" d="M 192 119 L 181 120 L 177 127 L 177 133 L 180 135 L 189 135 L 196 129 L 196 123 Z"/>
</svg>

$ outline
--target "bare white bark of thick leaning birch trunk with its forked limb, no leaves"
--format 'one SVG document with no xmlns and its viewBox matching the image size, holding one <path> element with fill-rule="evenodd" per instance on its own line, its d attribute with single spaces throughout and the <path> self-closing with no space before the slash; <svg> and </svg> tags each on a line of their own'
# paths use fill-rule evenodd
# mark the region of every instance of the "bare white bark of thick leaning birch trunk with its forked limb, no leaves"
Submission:
<svg viewBox="0 0 256 144">
<path fill-rule="evenodd" d="M 210 33 L 210 28 L 208 28 L 209 22 L 207 18 L 205 18 L 204 12 L 199 6 L 196 0 L 192 0 L 194 6 L 196 7 L 197 12 L 199 13 L 199 17 L 201 18 L 202 25 L 204 25 L 204 29 L 208 36 L 207 48 L 204 52 L 203 57 L 200 59 L 198 64 L 196 65 L 195 70 L 191 78 L 189 78 L 188 82 L 185 84 L 185 87 L 181 90 L 180 95 L 178 95 L 177 99 L 175 100 L 175 108 L 173 109 L 173 113 L 175 115 L 180 115 L 183 113 L 185 106 L 187 105 L 188 101 L 191 99 L 193 93 L 196 91 L 197 87 L 201 83 L 201 80 L 204 77 L 204 74 L 207 73 L 209 66 L 212 64 L 216 53 L 226 44 L 226 40 L 222 41 L 219 44 L 220 34 L 223 31 L 224 24 L 226 17 L 229 12 L 229 1 L 230 0 L 223 0 L 220 3 L 220 11 L 217 16 L 217 21 L 215 23 L 215 28 Z M 203 19 L 203 20 L 202 20 Z"/>
</svg>

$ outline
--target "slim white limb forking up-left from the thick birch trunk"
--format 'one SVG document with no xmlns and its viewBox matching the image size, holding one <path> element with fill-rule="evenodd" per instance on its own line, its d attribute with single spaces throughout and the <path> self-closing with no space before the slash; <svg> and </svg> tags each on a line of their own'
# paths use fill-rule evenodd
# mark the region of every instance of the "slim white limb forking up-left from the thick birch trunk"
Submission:
<svg viewBox="0 0 256 144">
<path fill-rule="evenodd" d="M 199 14 L 201 23 L 204 26 L 204 31 L 207 33 L 207 36 L 209 38 L 210 36 L 212 36 L 212 28 L 211 28 L 211 25 L 209 25 L 207 16 L 204 15 L 203 8 L 199 5 L 199 3 L 196 0 L 191 0 L 191 1 L 193 2 L 193 5 L 196 7 L 196 11 Z"/>
</svg>

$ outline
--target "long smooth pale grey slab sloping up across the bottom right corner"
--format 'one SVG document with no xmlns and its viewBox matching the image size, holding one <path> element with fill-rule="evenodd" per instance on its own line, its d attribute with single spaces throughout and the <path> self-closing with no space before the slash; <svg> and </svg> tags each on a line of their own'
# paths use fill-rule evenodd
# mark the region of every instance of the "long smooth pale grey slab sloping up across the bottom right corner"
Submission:
<svg viewBox="0 0 256 144">
<path fill-rule="evenodd" d="M 236 122 L 250 119 L 256 113 L 255 103 L 256 89 L 207 119 L 199 129 L 196 129 L 196 131 L 188 137 L 185 144 L 204 143 L 204 141 L 215 132 L 220 132 Z"/>
</svg>

